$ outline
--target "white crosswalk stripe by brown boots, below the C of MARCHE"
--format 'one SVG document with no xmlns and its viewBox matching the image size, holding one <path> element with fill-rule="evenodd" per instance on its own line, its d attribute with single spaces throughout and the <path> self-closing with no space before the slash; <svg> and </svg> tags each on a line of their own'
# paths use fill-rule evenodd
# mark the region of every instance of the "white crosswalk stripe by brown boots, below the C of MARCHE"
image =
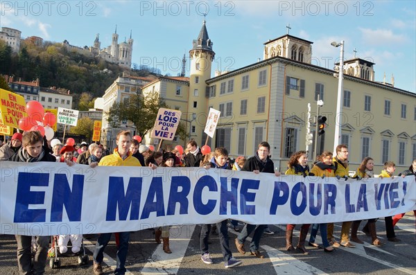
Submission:
<svg viewBox="0 0 416 275">
<path fill-rule="evenodd" d="M 141 269 L 142 275 L 166 275 L 177 274 L 182 259 L 187 252 L 189 241 L 191 240 L 195 225 L 183 225 L 171 227 L 170 247 L 172 254 L 163 251 L 163 245 L 158 245 L 153 255 L 148 259 L 144 268 Z M 175 231 L 175 233 L 173 233 Z M 176 233 L 177 232 L 177 233 Z"/>
</svg>

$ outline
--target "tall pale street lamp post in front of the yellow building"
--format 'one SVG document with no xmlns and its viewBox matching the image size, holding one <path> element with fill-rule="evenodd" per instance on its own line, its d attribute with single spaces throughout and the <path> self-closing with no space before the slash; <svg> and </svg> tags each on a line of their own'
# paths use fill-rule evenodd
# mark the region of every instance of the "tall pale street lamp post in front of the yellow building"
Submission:
<svg viewBox="0 0 416 275">
<path fill-rule="evenodd" d="M 338 48 L 340 46 L 340 66 L 338 67 L 338 94 L 336 98 L 336 118 L 335 118 L 335 134 L 333 136 L 333 152 L 336 152 L 336 146 L 340 144 L 341 121 L 343 114 L 343 107 L 341 106 L 341 99 L 343 97 L 344 85 L 344 40 L 340 43 L 332 42 L 331 46 Z"/>
</svg>

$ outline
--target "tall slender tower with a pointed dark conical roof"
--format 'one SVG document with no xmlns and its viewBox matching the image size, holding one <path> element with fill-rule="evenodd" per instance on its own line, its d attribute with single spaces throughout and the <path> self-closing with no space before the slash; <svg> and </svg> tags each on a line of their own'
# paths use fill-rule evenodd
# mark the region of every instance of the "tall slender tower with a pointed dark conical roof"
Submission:
<svg viewBox="0 0 416 275">
<path fill-rule="evenodd" d="M 212 51 L 211 39 L 209 39 L 206 21 L 202 22 L 202 28 L 198 38 L 193 40 L 193 46 L 189 51 L 191 59 L 191 69 L 189 75 L 189 98 L 188 98 L 188 114 L 186 119 L 193 120 L 193 114 L 196 114 L 196 121 L 191 123 L 191 138 L 196 136 L 206 136 L 203 134 L 205 122 L 208 114 L 207 83 L 211 78 L 211 63 L 214 60 L 215 53 Z M 183 116 L 184 114 L 182 114 Z M 196 140 L 198 145 L 205 144 L 205 140 Z"/>
</svg>

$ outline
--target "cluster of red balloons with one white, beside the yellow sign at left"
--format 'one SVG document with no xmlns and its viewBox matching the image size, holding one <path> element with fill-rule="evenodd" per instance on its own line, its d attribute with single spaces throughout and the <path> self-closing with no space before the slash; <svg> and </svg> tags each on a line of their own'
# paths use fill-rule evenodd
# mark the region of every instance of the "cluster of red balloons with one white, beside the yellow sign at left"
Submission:
<svg viewBox="0 0 416 275">
<path fill-rule="evenodd" d="M 56 116 L 46 113 L 42 104 L 35 100 L 26 103 L 26 113 L 28 116 L 19 119 L 19 129 L 24 131 L 39 131 L 42 136 L 50 141 L 55 132 L 51 128 L 56 123 Z"/>
</svg>

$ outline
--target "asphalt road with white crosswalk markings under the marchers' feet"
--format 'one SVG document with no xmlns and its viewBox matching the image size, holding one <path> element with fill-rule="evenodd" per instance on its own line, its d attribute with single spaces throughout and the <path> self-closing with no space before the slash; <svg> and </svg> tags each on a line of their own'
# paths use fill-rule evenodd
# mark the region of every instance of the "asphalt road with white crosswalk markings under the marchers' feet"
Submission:
<svg viewBox="0 0 416 275">
<path fill-rule="evenodd" d="M 364 222 L 361 224 L 363 227 Z M 339 248 L 333 253 L 324 253 L 322 249 L 307 247 L 309 255 L 288 253 L 285 247 L 286 226 L 270 225 L 274 235 L 263 234 L 260 250 L 266 258 L 254 258 L 250 253 L 239 254 L 234 245 L 236 232 L 229 230 L 229 243 L 233 256 L 243 261 L 239 267 L 225 269 L 218 236 L 211 236 L 209 246 L 213 265 L 206 265 L 200 260 L 200 227 L 187 225 L 171 228 L 172 254 L 165 254 L 162 245 L 157 245 L 153 231 L 143 230 L 130 234 L 130 247 L 127 258 L 126 274 L 416 274 L 416 235 L 413 211 L 397 224 L 396 233 L 401 242 L 388 242 L 385 239 L 384 220 L 376 222 L 381 240 L 386 242 L 381 247 L 370 245 L 370 238 L 359 231 L 364 245 L 356 248 Z M 340 223 L 336 224 L 335 236 L 339 237 Z M 296 228 L 297 230 L 299 228 Z M 296 231 L 298 234 L 299 231 Z M 85 240 L 89 263 L 78 266 L 76 256 L 62 256 L 61 267 L 46 267 L 46 275 L 73 274 L 85 275 L 92 272 L 92 251 L 96 238 Z M 309 236 L 306 241 L 309 240 Z M 297 242 L 294 236 L 293 242 Z M 317 238 L 317 242 L 320 239 Z M 249 242 L 245 242 L 248 249 Z M 0 275 L 18 274 L 16 262 L 16 242 L 14 236 L 0 236 Z M 112 274 L 115 265 L 116 246 L 113 240 L 105 249 L 105 274 Z M 130 273 L 129 273 L 130 272 Z"/>
</svg>

